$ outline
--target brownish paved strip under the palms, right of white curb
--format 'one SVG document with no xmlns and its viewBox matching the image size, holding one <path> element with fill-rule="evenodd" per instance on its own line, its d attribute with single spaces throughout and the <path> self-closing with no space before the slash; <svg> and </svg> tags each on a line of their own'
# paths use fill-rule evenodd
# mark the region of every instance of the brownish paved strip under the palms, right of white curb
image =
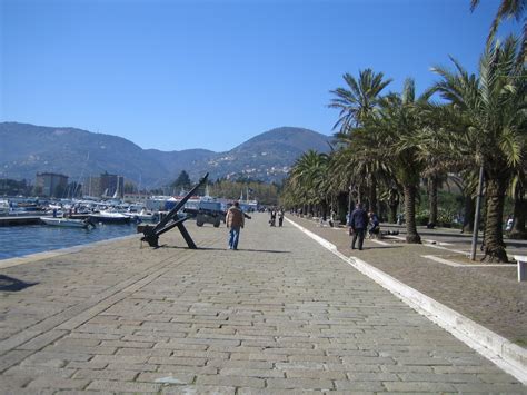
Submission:
<svg viewBox="0 0 527 395">
<path fill-rule="evenodd" d="M 385 245 L 380 245 L 366 239 L 362 251 L 352 251 L 347 229 L 320 227 L 312 220 L 290 218 L 335 244 L 346 256 L 364 259 L 510 342 L 524 348 L 527 346 L 527 283 L 517 280 L 516 265 L 467 264 L 454 267 L 425 258 L 436 256 L 463 261 L 463 254 L 453 254 L 450 249 L 466 250 L 469 254 L 470 240 L 466 235 L 453 233 L 448 238 L 450 243 L 444 247 L 429 243 L 408 245 L 397 239 L 382 239 Z M 382 227 L 386 229 L 385 225 Z M 432 230 L 424 233 L 427 236 L 421 236 L 422 238 L 440 239 Z"/>
</svg>

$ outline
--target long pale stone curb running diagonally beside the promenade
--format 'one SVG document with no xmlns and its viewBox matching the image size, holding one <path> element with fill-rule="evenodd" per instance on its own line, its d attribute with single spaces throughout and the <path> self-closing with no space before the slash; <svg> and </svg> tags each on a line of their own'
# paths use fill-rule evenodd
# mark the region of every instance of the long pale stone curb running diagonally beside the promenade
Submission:
<svg viewBox="0 0 527 395">
<path fill-rule="evenodd" d="M 454 335 L 467 346 L 493 362 L 499 368 L 510 374 L 524 385 L 527 385 L 527 350 L 505 337 L 475 323 L 463 314 L 421 294 L 378 268 L 356 257 L 346 257 L 337 250 L 337 246 L 315 235 L 312 231 L 286 218 L 291 225 L 315 239 L 321 246 L 334 253 L 340 259 L 355 267 L 364 275 L 386 288 L 404 303 L 424 315 L 432 323 Z"/>
</svg>

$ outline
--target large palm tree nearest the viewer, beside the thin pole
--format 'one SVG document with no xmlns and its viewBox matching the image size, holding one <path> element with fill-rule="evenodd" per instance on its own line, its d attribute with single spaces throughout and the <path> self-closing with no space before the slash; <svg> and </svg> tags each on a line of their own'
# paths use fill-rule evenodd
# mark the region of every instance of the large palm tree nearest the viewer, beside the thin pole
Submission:
<svg viewBox="0 0 527 395">
<path fill-rule="evenodd" d="M 509 37 L 487 47 L 479 62 L 479 77 L 469 75 L 455 59 L 456 71 L 436 67 L 441 77 L 434 89 L 463 112 L 469 127 L 459 138 L 459 149 L 473 152 L 486 179 L 485 260 L 507 261 L 501 220 L 505 192 L 513 169 L 525 152 L 525 66 L 516 62 L 518 41 Z"/>
</svg>

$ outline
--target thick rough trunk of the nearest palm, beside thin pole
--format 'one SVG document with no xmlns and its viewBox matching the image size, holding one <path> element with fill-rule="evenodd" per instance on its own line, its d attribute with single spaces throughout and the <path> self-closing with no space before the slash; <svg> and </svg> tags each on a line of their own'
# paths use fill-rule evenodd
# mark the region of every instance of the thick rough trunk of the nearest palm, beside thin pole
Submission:
<svg viewBox="0 0 527 395">
<path fill-rule="evenodd" d="M 487 214 L 485 221 L 485 261 L 507 263 L 505 251 L 503 218 L 506 178 L 489 175 L 487 179 Z"/>
</svg>

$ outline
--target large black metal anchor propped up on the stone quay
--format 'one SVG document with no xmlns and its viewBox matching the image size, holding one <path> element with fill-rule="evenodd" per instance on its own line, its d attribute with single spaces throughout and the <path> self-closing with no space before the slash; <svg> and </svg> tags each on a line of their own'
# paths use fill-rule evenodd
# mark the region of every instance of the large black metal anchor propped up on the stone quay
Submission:
<svg viewBox="0 0 527 395">
<path fill-rule="evenodd" d="M 189 248 L 197 249 L 198 247 L 193 243 L 192 238 L 190 237 L 183 225 L 183 223 L 189 217 L 185 216 L 180 218 L 178 217 L 178 211 L 181 207 L 185 206 L 187 200 L 190 199 L 190 197 L 196 192 L 196 190 L 198 190 L 199 187 L 207 182 L 207 177 L 209 177 L 208 172 L 205 175 L 203 178 L 199 180 L 198 185 L 195 186 L 187 195 L 185 195 L 185 197 L 180 201 L 178 201 L 178 204 L 173 206 L 173 208 L 168 211 L 167 216 L 156 226 L 146 225 L 142 228 L 143 236 L 141 237 L 141 241 L 147 241 L 150 247 L 159 247 L 159 236 L 175 227 L 178 227 L 179 231 L 181 233 L 181 236 L 183 236 L 183 239 L 185 241 L 187 241 Z"/>
</svg>

